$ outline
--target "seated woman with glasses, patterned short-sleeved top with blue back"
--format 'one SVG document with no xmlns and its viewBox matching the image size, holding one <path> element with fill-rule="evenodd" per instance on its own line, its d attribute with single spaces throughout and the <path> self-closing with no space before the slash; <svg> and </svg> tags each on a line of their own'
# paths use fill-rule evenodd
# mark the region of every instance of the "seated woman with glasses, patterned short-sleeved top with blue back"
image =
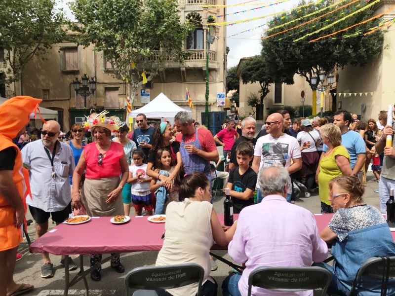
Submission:
<svg viewBox="0 0 395 296">
<path fill-rule="evenodd" d="M 379 210 L 363 203 L 363 192 L 356 177 L 339 176 L 329 182 L 329 202 L 335 214 L 320 236 L 331 246 L 334 260 L 332 266 L 316 264 L 332 273 L 328 295 L 349 295 L 356 273 L 367 259 L 395 255 L 387 222 Z M 358 295 L 383 295 L 381 285 L 381 279 L 364 280 Z M 387 295 L 395 295 L 395 281 L 390 280 L 387 287 Z"/>
</svg>

